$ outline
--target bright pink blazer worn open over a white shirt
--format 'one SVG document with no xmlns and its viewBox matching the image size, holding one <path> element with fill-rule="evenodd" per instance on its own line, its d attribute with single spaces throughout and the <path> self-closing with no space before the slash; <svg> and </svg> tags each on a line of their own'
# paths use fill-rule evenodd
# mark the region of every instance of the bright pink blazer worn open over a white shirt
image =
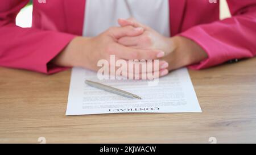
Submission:
<svg viewBox="0 0 256 155">
<path fill-rule="evenodd" d="M 227 0 L 232 18 L 219 20 L 219 2 L 170 0 L 171 34 L 199 44 L 209 58 L 193 69 L 256 55 L 256 1 Z M 1 0 L 0 66 L 42 73 L 63 70 L 52 60 L 77 35 L 82 35 L 85 0 L 34 0 L 32 28 L 15 26 L 28 0 Z M 100 10 L 99 10 L 100 11 Z"/>
</svg>

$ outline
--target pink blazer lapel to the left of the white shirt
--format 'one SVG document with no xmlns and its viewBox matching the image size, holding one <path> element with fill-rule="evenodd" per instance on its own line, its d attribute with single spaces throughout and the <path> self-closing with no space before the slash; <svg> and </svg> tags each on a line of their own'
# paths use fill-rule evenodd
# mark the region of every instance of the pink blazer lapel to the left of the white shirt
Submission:
<svg viewBox="0 0 256 155">
<path fill-rule="evenodd" d="M 67 32 L 81 36 L 84 26 L 85 0 L 64 0 L 63 2 Z"/>
</svg>

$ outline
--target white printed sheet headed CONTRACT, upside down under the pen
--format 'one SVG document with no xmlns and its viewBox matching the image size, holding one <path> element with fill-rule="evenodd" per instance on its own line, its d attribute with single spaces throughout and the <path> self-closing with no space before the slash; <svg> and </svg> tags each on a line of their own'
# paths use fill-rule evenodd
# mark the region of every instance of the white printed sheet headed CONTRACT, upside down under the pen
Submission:
<svg viewBox="0 0 256 155">
<path fill-rule="evenodd" d="M 142 99 L 127 98 L 91 87 L 86 85 L 86 79 L 128 91 Z M 149 83 L 148 80 L 100 80 L 96 72 L 73 68 L 66 115 L 201 112 L 187 68 L 159 78 L 156 85 Z"/>
</svg>

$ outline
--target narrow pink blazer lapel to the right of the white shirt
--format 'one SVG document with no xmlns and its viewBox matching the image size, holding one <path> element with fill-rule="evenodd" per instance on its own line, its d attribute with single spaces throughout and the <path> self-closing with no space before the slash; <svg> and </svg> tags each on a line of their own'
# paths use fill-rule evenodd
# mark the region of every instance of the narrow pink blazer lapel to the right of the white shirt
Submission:
<svg viewBox="0 0 256 155">
<path fill-rule="evenodd" d="M 177 33 L 181 32 L 186 1 L 187 0 L 169 1 L 171 36 L 175 36 Z"/>
</svg>

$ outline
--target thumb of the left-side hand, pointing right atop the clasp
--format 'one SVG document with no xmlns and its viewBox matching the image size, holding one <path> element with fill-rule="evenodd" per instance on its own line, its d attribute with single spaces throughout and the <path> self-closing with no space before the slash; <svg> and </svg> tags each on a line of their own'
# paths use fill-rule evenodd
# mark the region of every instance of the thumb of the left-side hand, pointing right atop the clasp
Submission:
<svg viewBox="0 0 256 155">
<path fill-rule="evenodd" d="M 109 28 L 110 35 L 115 39 L 119 39 L 124 36 L 138 36 L 143 32 L 144 29 L 142 27 L 125 26 Z"/>
</svg>

